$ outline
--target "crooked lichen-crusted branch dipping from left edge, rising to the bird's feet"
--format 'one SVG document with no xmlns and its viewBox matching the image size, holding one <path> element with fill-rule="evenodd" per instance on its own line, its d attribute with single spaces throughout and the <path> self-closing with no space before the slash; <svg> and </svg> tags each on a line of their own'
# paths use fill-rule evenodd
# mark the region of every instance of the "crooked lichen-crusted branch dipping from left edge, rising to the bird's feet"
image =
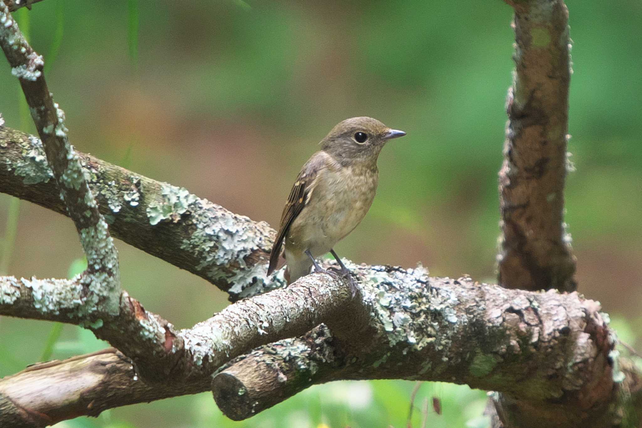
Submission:
<svg viewBox="0 0 642 428">
<path fill-rule="evenodd" d="M 347 307 L 354 306 L 357 314 L 356 300 L 348 295 L 328 275 L 315 275 L 297 287 L 241 300 L 191 329 L 176 331 L 125 292 L 120 313 L 112 316 L 87 311 L 78 281 L 0 277 L 0 315 L 83 325 L 130 357 L 146 381 L 182 383 L 210 375 L 259 345 L 304 334 L 338 318 L 336 312 Z"/>
</svg>

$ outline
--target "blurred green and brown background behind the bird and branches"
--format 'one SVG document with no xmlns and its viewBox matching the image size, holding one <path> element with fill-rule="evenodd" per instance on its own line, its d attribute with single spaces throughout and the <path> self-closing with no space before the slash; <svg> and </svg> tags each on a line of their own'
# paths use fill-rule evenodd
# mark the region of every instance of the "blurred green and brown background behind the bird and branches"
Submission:
<svg viewBox="0 0 642 428">
<path fill-rule="evenodd" d="M 15 13 L 45 57 L 49 89 L 78 150 L 275 226 L 325 133 L 346 117 L 373 116 L 408 135 L 381 153 L 377 198 L 337 252 L 371 264 L 421 261 L 432 275 L 494 282 L 510 7 L 478 0 L 182 5 L 46 0 Z M 566 220 L 577 279 L 639 349 L 642 3 L 568 6 L 575 42 L 569 151 L 577 171 L 568 177 Z M 17 80 L 8 65 L 1 70 L 6 125 L 33 132 Z M 82 269 L 69 219 L 5 194 L 0 237 L 0 274 L 65 277 Z M 123 287 L 177 327 L 227 305 L 204 280 L 117 246 Z M 0 318 L 0 376 L 104 346 L 73 326 Z M 413 386 L 315 386 L 246 422 L 225 419 L 204 393 L 59 426 L 403 427 Z M 443 415 L 431 410 L 428 426 L 487 425 L 482 391 L 424 384 L 413 426 L 432 397 Z"/>
</svg>

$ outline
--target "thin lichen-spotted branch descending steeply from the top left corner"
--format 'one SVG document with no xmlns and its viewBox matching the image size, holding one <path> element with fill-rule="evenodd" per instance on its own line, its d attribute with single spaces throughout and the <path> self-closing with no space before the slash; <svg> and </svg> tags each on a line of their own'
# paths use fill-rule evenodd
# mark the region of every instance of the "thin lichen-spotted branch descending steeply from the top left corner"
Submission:
<svg viewBox="0 0 642 428">
<path fill-rule="evenodd" d="M 0 2 L 0 47 L 12 67 L 12 74 L 20 81 L 58 185 L 58 194 L 80 235 L 87 256 L 87 270 L 80 275 L 80 283 L 96 309 L 116 315 L 120 295 L 116 246 L 89 190 L 80 158 L 69 144 L 65 114 L 53 101 L 42 74 L 44 60 L 31 49 L 3 2 Z"/>
</svg>

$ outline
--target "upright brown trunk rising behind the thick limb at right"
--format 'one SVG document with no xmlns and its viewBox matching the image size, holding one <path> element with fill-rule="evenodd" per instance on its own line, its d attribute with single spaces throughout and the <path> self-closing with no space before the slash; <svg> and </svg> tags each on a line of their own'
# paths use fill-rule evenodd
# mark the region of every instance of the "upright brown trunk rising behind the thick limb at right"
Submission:
<svg viewBox="0 0 642 428">
<path fill-rule="evenodd" d="M 573 291 L 575 259 L 564 223 L 571 78 L 568 10 L 562 0 L 506 2 L 515 10 L 516 67 L 499 171 L 499 283 Z"/>
</svg>

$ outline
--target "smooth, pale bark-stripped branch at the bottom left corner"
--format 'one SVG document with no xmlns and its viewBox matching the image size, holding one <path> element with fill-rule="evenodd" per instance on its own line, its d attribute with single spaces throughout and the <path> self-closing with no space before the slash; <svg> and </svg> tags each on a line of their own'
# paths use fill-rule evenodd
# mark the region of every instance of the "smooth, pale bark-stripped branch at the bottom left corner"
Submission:
<svg viewBox="0 0 642 428">
<path fill-rule="evenodd" d="M 131 361 L 114 348 L 64 361 L 48 361 L 0 380 L 0 426 L 37 428 L 76 416 L 193 394 L 209 380 L 191 384 L 146 384 Z"/>
</svg>

